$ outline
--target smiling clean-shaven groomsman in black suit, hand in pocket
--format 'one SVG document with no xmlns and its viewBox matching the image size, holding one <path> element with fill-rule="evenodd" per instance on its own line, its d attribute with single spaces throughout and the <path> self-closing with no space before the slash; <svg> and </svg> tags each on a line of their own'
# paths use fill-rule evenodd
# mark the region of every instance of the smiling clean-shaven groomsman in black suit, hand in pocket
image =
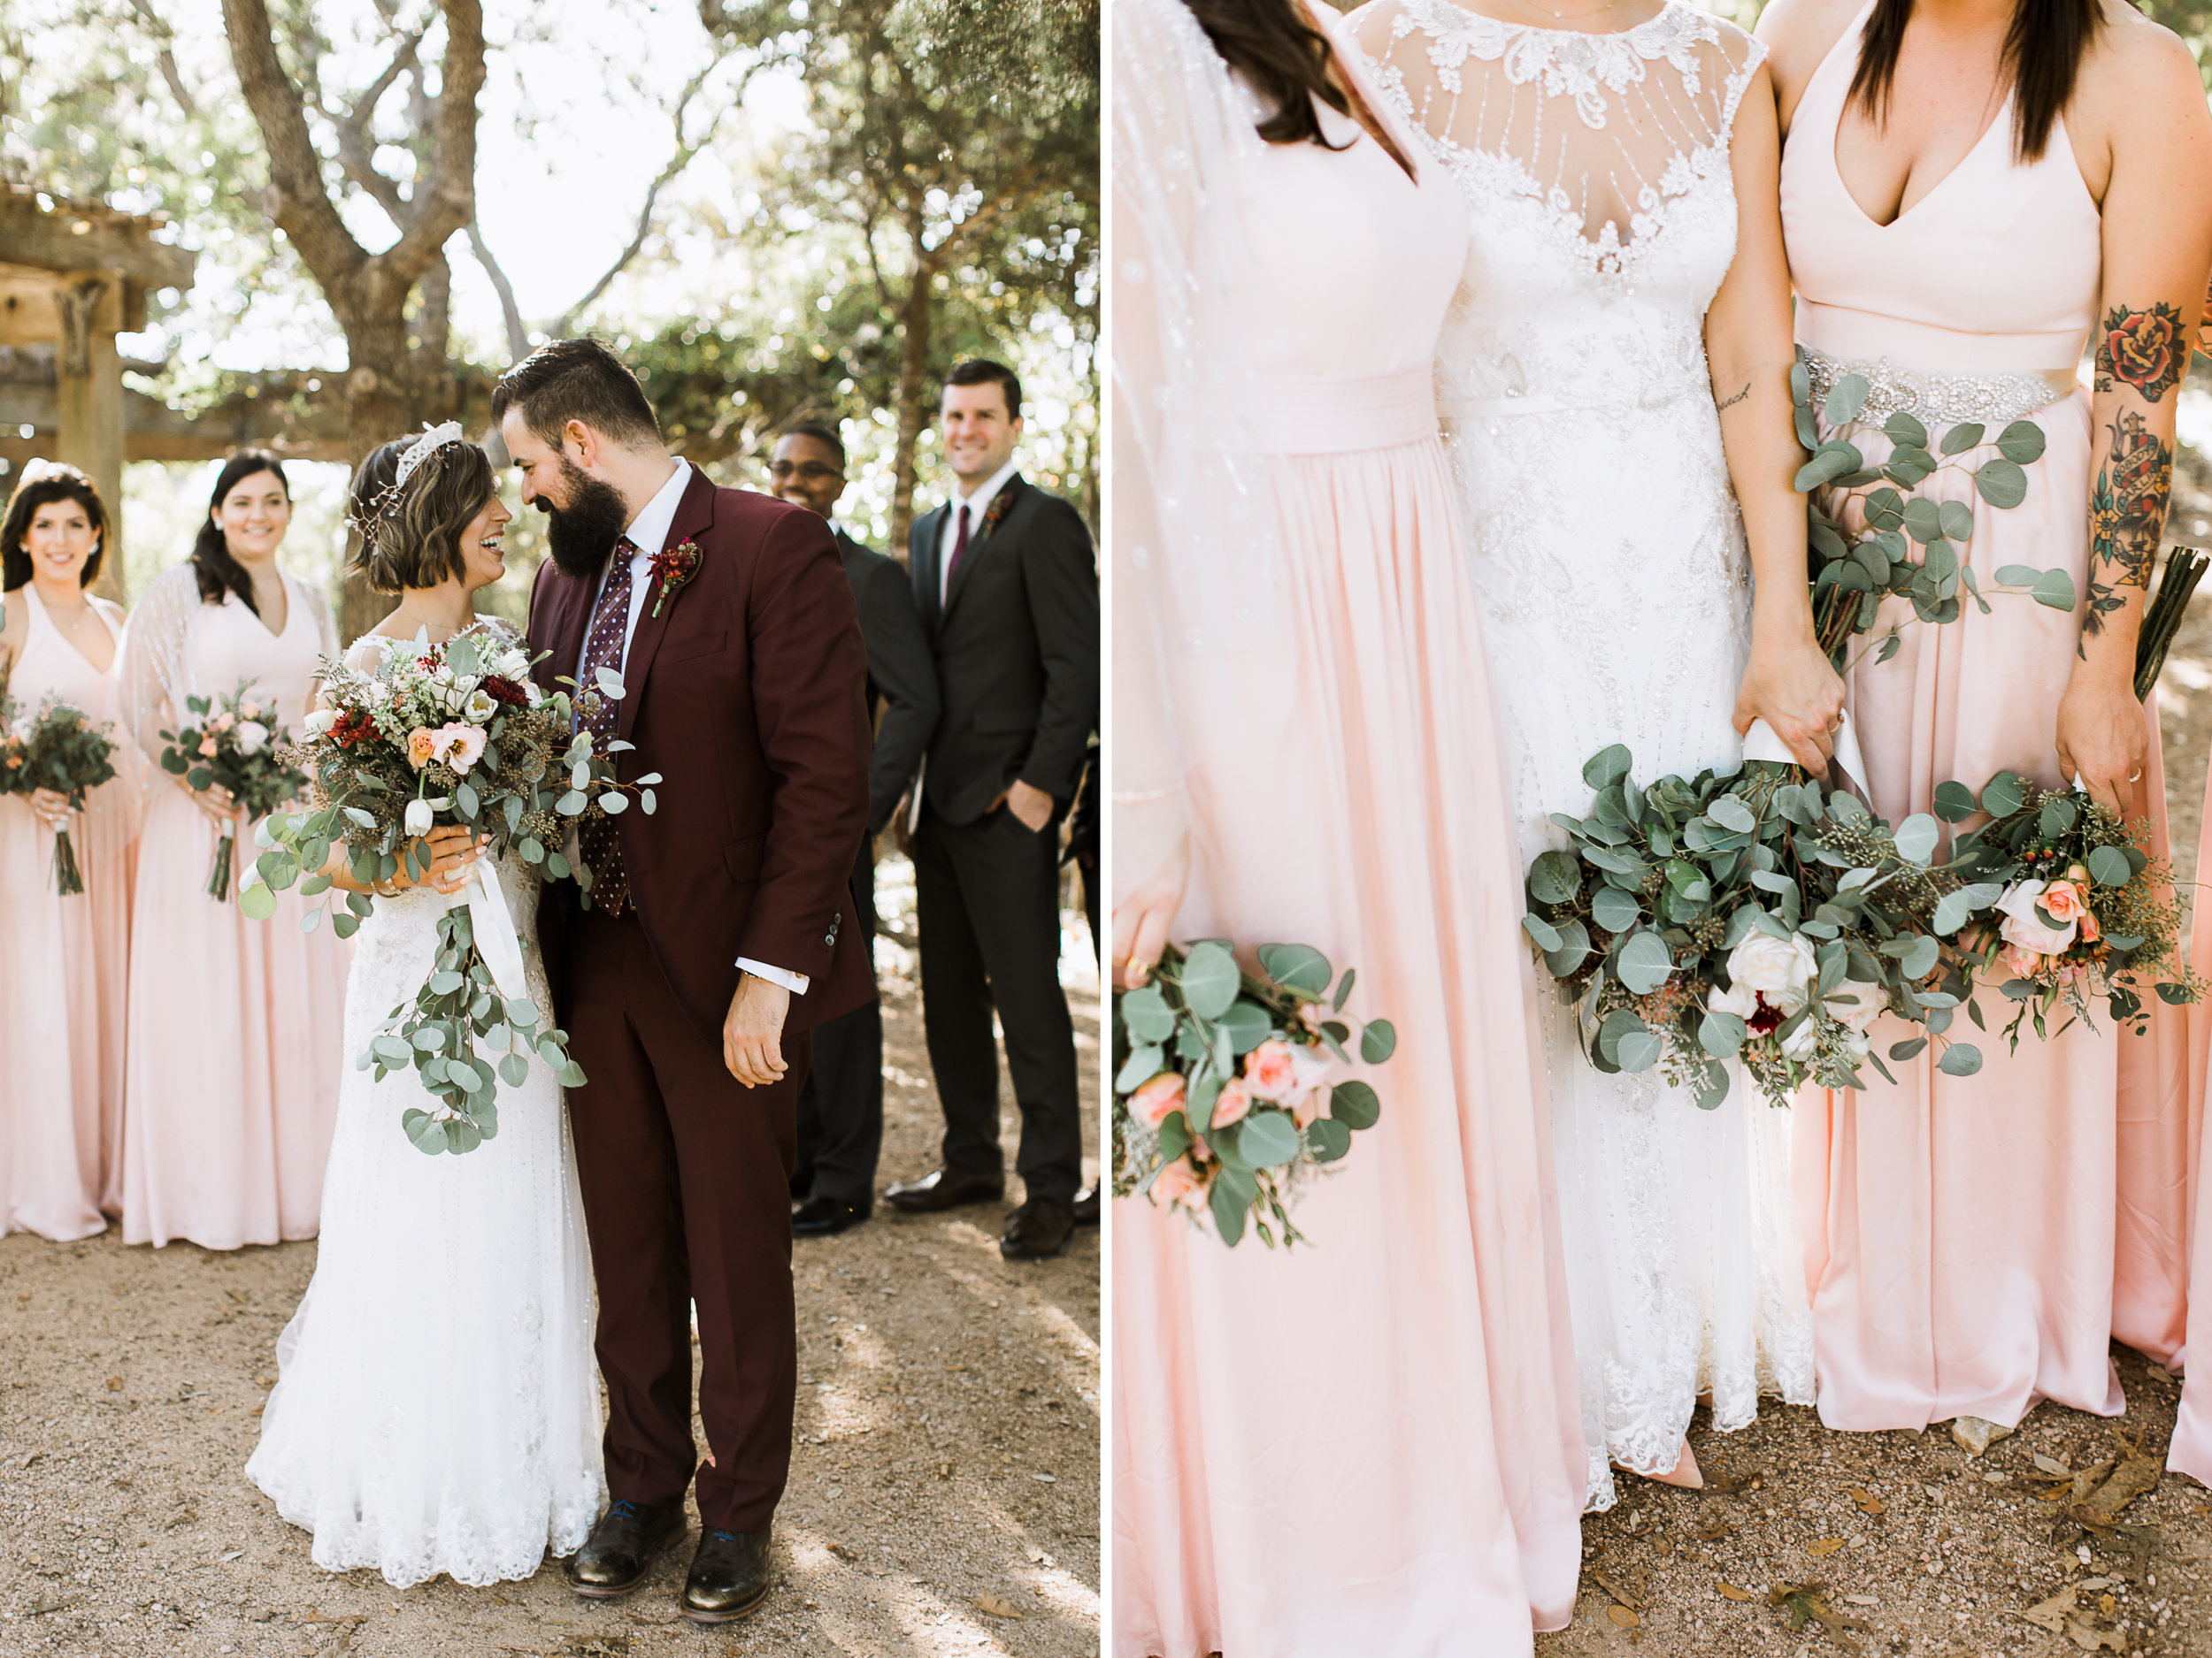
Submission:
<svg viewBox="0 0 2212 1658">
<path fill-rule="evenodd" d="M 909 542 L 942 712 L 914 829 L 922 1021 L 945 1101 L 942 1165 L 885 1192 L 929 1214 L 1002 1198 L 998 1050 L 1022 1110 L 1009 1260 L 1057 1256 L 1082 1185 L 1082 1083 L 1060 988 L 1060 822 L 1099 705 L 1099 586 L 1091 531 L 1029 484 L 1013 451 L 1022 382 L 962 363 L 938 400 L 953 497 Z"/>
</svg>

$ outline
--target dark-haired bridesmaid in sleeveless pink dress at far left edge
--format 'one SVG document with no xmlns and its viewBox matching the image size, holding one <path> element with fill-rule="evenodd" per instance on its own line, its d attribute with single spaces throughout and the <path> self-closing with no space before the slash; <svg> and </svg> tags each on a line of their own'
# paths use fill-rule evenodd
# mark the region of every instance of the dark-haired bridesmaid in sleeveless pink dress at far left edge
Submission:
<svg viewBox="0 0 2212 1658">
<path fill-rule="evenodd" d="M 22 714 L 49 696 L 111 725 L 115 780 L 82 811 L 42 789 L 0 800 L 0 1231 L 88 1238 L 115 1214 L 131 970 L 137 767 L 113 730 L 124 612 L 91 595 L 108 513 L 73 466 L 31 462 L 0 524 L 0 683 Z M 84 891 L 53 886 L 69 827 Z"/>
</svg>

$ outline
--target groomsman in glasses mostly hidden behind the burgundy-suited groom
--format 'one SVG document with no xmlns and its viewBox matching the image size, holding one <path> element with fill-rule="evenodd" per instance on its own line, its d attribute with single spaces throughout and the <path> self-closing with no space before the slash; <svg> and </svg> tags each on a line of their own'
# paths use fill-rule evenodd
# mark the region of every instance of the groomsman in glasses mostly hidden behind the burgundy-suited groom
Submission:
<svg viewBox="0 0 2212 1658">
<path fill-rule="evenodd" d="M 852 871 L 854 924 L 876 940 L 876 836 L 914 783 L 938 723 L 938 674 L 914 590 L 898 559 L 860 546 L 832 517 L 845 493 L 845 444 L 827 427 L 792 427 L 776 440 L 768 480 L 781 500 L 830 520 L 845 579 L 860 606 L 867 648 L 867 718 L 876 732 L 867 767 L 867 840 Z M 814 1063 L 799 1090 L 799 1167 L 792 1234 L 823 1238 L 867 1220 L 883 1150 L 883 1001 L 814 1026 Z"/>
</svg>

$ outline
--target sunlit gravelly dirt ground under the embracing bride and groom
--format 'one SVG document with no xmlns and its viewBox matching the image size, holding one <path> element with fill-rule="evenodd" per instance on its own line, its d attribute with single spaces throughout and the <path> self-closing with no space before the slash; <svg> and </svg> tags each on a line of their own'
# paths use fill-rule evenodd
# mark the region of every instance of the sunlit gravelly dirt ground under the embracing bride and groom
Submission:
<svg viewBox="0 0 2212 1658">
<path fill-rule="evenodd" d="M 878 1192 L 929 1169 L 942 1130 L 911 955 L 883 955 Z M 1095 973 L 1075 968 L 1071 1004 L 1088 1066 Z M 1009 1105 L 1009 1165 L 1015 1127 Z M 1084 1127 L 1095 1145 L 1093 1112 Z M 491 1589 L 319 1570 L 307 1534 L 241 1475 L 312 1242 L 223 1256 L 124 1249 L 113 1229 L 0 1238 L 0 1658 L 1095 1654 L 1099 1240 L 1082 1229 L 1057 1260 L 1009 1265 L 1004 1214 L 878 1205 L 843 1236 L 799 1240 L 779 1585 L 714 1634 L 677 1614 L 697 1514 L 617 1603 L 577 1601 L 557 1563 Z"/>
</svg>

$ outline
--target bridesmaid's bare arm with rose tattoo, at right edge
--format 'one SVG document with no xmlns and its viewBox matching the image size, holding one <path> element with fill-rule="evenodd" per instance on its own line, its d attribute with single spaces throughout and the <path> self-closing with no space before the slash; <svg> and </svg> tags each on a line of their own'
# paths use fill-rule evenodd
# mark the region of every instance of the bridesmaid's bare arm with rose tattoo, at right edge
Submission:
<svg viewBox="0 0 2212 1658">
<path fill-rule="evenodd" d="M 2088 608 L 2059 703 L 2057 760 L 2093 796 L 2126 807 L 2150 756 L 2135 637 L 2166 528 L 2177 387 L 2212 265 L 2212 115 L 2194 62 L 2163 29 L 2121 20 L 2097 57 L 2081 126 L 2104 153 L 2084 157 L 2084 170 L 2108 161 L 2110 175 L 2093 332 Z"/>
</svg>

